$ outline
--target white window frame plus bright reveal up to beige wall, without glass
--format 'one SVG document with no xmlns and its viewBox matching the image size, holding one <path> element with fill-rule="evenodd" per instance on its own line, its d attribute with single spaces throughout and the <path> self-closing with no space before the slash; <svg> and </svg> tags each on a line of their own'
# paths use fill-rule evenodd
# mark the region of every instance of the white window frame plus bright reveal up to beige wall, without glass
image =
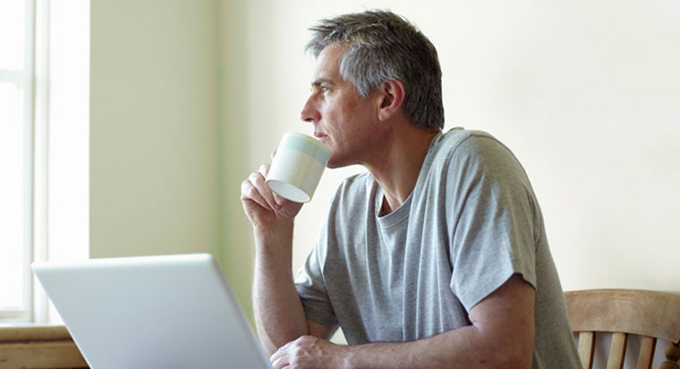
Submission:
<svg viewBox="0 0 680 369">
<path fill-rule="evenodd" d="M 22 1 L 24 68 L 0 70 L 23 96 L 22 306 L 0 324 L 59 324 L 30 265 L 89 257 L 90 2 Z"/>
</svg>

